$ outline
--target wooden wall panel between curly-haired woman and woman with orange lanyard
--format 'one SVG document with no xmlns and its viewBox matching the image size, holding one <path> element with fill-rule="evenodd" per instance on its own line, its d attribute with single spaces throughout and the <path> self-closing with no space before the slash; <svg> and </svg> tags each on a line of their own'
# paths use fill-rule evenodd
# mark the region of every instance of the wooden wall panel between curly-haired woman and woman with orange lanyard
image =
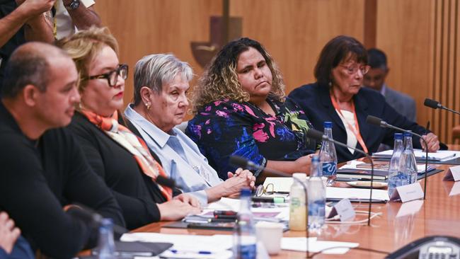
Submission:
<svg viewBox="0 0 460 259">
<path fill-rule="evenodd" d="M 287 93 L 314 82 L 323 45 L 336 35 L 364 38 L 364 0 L 231 0 L 243 18 L 243 36 L 265 45 L 280 67 Z"/>
</svg>

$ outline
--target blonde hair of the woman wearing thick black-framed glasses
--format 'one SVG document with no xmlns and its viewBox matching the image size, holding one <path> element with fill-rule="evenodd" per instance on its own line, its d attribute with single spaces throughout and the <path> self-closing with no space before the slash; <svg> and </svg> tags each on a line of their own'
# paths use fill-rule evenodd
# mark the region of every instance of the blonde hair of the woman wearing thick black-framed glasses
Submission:
<svg viewBox="0 0 460 259">
<path fill-rule="evenodd" d="M 74 35 L 59 40 L 56 45 L 74 59 L 76 69 L 79 72 L 80 93 L 88 84 L 88 81 L 84 79 L 88 76 L 89 65 L 96 59 L 103 47 L 108 46 L 118 54 L 118 42 L 106 27 L 92 26 L 88 30 L 80 30 Z"/>
</svg>

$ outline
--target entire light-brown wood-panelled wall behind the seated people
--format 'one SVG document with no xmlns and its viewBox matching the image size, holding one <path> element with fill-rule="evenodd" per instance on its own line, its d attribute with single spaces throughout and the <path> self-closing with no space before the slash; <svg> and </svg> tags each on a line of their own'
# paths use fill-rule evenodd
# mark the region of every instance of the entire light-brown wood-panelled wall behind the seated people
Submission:
<svg viewBox="0 0 460 259">
<path fill-rule="evenodd" d="M 428 96 L 460 109 L 458 1 L 229 0 L 229 13 L 243 19 L 243 36 L 259 40 L 275 57 L 289 92 L 314 81 L 316 59 L 330 38 L 346 34 L 369 39 L 364 27 L 372 20 L 364 16 L 364 5 L 375 4 L 376 18 L 370 16 L 375 18 L 375 40 L 369 42 L 388 54 L 388 84 L 413 96 L 418 122 L 432 120 L 435 132 L 450 142 L 450 127 L 459 120 L 422 103 Z M 98 0 L 96 10 L 120 41 L 120 61 L 131 67 L 125 98 L 129 101 L 132 68 L 145 54 L 173 52 L 200 76 L 190 42 L 209 40 L 209 16 L 222 14 L 222 1 Z"/>
</svg>

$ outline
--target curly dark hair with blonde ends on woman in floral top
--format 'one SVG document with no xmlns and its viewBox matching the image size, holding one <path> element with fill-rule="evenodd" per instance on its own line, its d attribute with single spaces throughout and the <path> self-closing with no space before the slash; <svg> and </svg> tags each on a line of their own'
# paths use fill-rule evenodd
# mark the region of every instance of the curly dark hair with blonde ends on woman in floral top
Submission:
<svg viewBox="0 0 460 259">
<path fill-rule="evenodd" d="M 207 103 L 222 98 L 238 102 L 249 100 L 249 93 L 243 90 L 238 81 L 236 67 L 239 55 L 249 50 L 250 47 L 262 54 L 272 72 L 273 81 L 270 97 L 284 101 L 285 86 L 282 74 L 270 54 L 259 42 L 249 38 L 239 38 L 222 47 L 222 50 L 212 59 L 209 67 L 200 77 L 197 86 L 192 91 L 192 113 L 197 113 L 197 110 Z"/>
</svg>

